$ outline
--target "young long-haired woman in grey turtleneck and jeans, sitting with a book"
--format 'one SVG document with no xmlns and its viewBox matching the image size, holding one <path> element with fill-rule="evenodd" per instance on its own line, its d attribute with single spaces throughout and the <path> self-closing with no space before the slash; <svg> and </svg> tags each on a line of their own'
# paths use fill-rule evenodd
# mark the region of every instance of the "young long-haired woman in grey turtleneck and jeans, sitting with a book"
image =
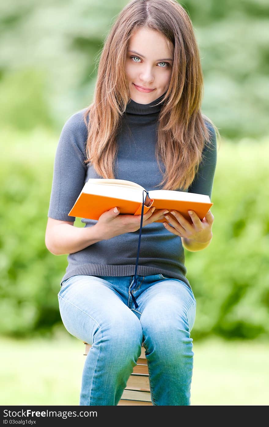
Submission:
<svg viewBox="0 0 269 427">
<path fill-rule="evenodd" d="M 118 404 L 142 342 L 153 405 L 190 405 L 196 300 L 184 247 L 209 245 L 214 216 L 189 212 L 188 222 L 179 212 L 145 213 L 136 276 L 141 216 L 115 206 L 78 228 L 68 213 L 89 178 L 211 197 L 218 130 L 201 113 L 202 85 L 185 10 L 174 0 L 134 0 L 104 43 L 93 103 L 61 132 L 46 246 L 69 254 L 58 293 L 64 326 L 92 344 L 80 405 Z"/>
</svg>

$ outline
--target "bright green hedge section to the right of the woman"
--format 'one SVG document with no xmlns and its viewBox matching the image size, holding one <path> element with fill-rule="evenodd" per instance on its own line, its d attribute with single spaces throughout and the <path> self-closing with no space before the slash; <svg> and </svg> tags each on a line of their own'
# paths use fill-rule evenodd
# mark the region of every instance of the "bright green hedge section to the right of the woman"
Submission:
<svg viewBox="0 0 269 427">
<path fill-rule="evenodd" d="M 223 143 L 211 201 L 211 244 L 187 252 L 197 299 L 193 336 L 253 339 L 269 332 L 269 213 L 266 142 Z"/>
</svg>

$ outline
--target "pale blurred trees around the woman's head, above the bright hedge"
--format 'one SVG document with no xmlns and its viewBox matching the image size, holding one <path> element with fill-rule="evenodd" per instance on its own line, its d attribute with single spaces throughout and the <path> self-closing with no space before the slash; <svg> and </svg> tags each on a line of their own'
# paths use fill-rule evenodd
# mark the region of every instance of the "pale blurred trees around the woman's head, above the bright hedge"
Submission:
<svg viewBox="0 0 269 427">
<path fill-rule="evenodd" d="M 127 3 L 3 2 L 0 127 L 10 123 L 24 131 L 43 124 L 59 132 L 67 117 L 89 105 L 104 39 Z M 200 49 L 205 114 L 223 137 L 268 135 L 269 2 L 180 4 Z"/>
</svg>

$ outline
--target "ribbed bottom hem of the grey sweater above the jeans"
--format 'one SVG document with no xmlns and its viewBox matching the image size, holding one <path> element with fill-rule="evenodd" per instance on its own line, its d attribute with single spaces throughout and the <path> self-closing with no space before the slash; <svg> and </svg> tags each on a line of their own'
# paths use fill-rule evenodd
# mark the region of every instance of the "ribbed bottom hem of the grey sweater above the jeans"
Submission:
<svg viewBox="0 0 269 427">
<path fill-rule="evenodd" d="M 103 264 L 83 264 L 77 268 L 67 272 L 61 280 L 61 285 L 64 280 L 69 277 L 77 275 L 89 275 L 89 276 L 133 276 L 135 273 L 135 265 L 103 265 Z M 169 270 L 158 269 L 155 267 L 138 266 L 137 275 L 139 276 L 151 276 L 153 274 L 162 274 L 174 279 L 182 280 L 189 288 L 191 285 L 188 279 L 180 274 L 174 273 Z"/>
</svg>

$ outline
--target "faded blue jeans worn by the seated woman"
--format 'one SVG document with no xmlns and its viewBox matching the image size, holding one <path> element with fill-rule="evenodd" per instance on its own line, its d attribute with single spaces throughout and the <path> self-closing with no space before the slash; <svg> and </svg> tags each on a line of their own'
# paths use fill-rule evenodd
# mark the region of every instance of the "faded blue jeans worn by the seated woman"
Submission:
<svg viewBox="0 0 269 427">
<path fill-rule="evenodd" d="M 190 405 L 196 300 L 188 285 L 161 274 L 76 275 L 58 293 L 61 319 L 73 336 L 92 344 L 79 405 L 116 406 L 144 342 L 153 405 Z"/>
</svg>

